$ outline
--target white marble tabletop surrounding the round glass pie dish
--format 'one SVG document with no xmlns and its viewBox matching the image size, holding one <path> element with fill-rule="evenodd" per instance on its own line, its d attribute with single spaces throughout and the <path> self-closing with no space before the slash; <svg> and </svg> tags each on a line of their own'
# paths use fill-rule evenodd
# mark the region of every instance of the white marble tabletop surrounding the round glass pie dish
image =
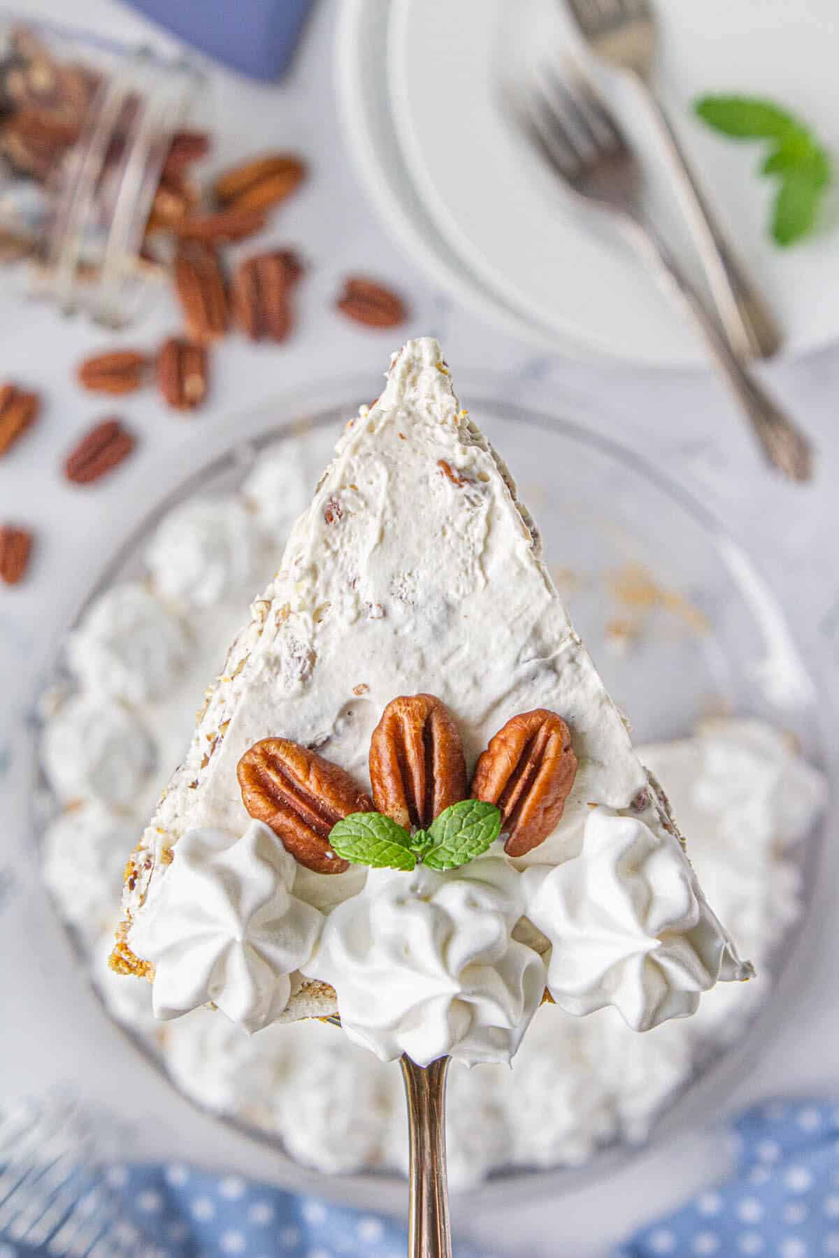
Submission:
<svg viewBox="0 0 839 1258">
<path fill-rule="evenodd" d="M 214 74 L 218 117 L 224 121 L 223 159 L 272 145 L 299 145 L 312 159 L 312 181 L 277 216 L 273 231 L 278 243 L 302 245 L 311 260 L 301 293 L 299 330 L 287 346 L 225 343 L 214 356 L 210 406 L 190 419 L 165 411 L 151 392 L 126 399 L 121 410 L 141 445 L 109 483 L 86 492 L 60 481 L 59 459 L 88 421 L 112 408 L 82 395 L 70 382 L 72 371 L 82 355 L 112 338 L 67 323 L 45 307 L 20 307 L 6 291 L 0 293 L 3 374 L 40 385 L 48 398 L 39 429 L 0 463 L 3 516 L 31 522 L 39 532 L 31 579 L 14 591 L 0 589 L 0 755 L 10 772 L 28 771 L 28 749 L 11 735 L 31 710 L 36 683 L 81 595 L 81 580 L 99 567 L 150 496 L 162 493 L 194 463 L 224 448 L 233 435 L 229 416 L 278 391 L 321 381 L 325 347 L 331 374 L 369 374 L 369 396 L 375 396 L 382 355 L 394 338 L 345 323 L 330 309 L 341 276 L 351 269 L 369 269 L 397 283 L 414 312 L 406 331 L 442 336 L 458 369 L 496 370 L 499 396 L 540 403 L 626 444 L 654 449 L 663 470 L 704 498 L 761 562 L 782 595 L 805 653 L 821 669 L 825 694 L 835 702 L 839 584 L 831 538 L 839 516 L 839 353 L 824 352 L 767 372 L 820 447 L 818 479 L 801 491 L 780 484 L 758 465 L 748 435 L 711 379 L 595 369 L 540 355 L 453 308 L 380 229 L 348 167 L 330 88 L 336 9 L 326 4 L 316 13 L 303 55 L 281 88 Z M 57 16 L 62 6 L 59 0 L 29 0 L 28 11 Z M 109 0 L 79 0 L 74 19 L 123 38 L 155 35 L 151 26 Z M 151 347 L 175 327 L 174 308 L 164 307 L 122 340 Z M 509 452 L 511 459 L 514 453 Z M 6 888 L 0 911 L 0 955 L 6 962 L 0 980 L 4 1091 L 73 1079 L 88 1096 L 132 1116 L 141 1149 L 215 1165 L 235 1160 L 270 1177 L 270 1154 L 221 1133 L 215 1122 L 195 1113 L 103 1018 L 86 980 L 73 969 L 44 898 L 28 816 L 16 805 L 19 794 L 15 806 L 4 800 L 0 832 L 0 886 Z M 823 894 L 831 897 L 834 888 L 823 887 Z M 36 950 L 28 946 L 35 933 Z M 836 945 L 839 926 L 811 959 L 811 981 L 784 1030 L 766 1043 L 732 1106 L 774 1092 L 835 1089 Z M 52 959 L 49 965 L 44 956 Z M 686 1136 L 643 1155 L 608 1181 L 557 1200 L 530 1200 L 517 1208 L 504 1200 L 496 1209 L 484 1206 L 479 1218 L 455 1203 L 455 1225 L 511 1254 L 547 1258 L 560 1250 L 595 1258 L 636 1222 L 716 1177 L 722 1157 L 720 1138 Z"/>
</svg>

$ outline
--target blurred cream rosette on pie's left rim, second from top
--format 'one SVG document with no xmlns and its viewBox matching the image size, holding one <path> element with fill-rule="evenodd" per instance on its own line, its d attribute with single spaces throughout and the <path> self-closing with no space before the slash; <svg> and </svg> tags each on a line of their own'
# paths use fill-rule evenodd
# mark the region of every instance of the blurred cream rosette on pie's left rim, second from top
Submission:
<svg viewBox="0 0 839 1258">
<path fill-rule="evenodd" d="M 240 498 L 192 498 L 160 525 L 146 564 L 164 599 L 209 608 L 250 593 L 262 557 L 253 513 Z"/>
</svg>

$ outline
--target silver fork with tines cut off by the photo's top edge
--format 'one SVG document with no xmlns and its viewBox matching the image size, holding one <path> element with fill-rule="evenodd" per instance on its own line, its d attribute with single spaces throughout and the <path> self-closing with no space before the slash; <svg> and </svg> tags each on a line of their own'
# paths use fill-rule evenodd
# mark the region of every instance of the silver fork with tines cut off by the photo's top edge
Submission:
<svg viewBox="0 0 839 1258">
<path fill-rule="evenodd" d="M 644 92 L 728 340 L 743 356 L 770 357 L 781 343 L 777 325 L 726 242 L 653 86 L 657 39 L 649 0 L 566 3 L 595 55 L 628 70 Z"/>
</svg>

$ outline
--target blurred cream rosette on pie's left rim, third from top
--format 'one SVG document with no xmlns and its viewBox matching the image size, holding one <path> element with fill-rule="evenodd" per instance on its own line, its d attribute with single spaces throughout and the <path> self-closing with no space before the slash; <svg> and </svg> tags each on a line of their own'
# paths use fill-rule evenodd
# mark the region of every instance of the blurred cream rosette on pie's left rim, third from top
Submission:
<svg viewBox="0 0 839 1258">
<path fill-rule="evenodd" d="M 67 662 L 91 691 L 142 703 L 157 698 L 185 664 L 181 623 L 142 585 L 114 585 L 67 644 Z"/>
</svg>

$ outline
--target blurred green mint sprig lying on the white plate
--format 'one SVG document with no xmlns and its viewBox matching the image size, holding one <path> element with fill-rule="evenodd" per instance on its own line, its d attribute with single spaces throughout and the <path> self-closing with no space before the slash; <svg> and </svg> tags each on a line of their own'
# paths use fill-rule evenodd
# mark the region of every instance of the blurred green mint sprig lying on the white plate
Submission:
<svg viewBox="0 0 839 1258">
<path fill-rule="evenodd" d="M 790 245 L 810 235 L 833 179 L 830 157 L 813 131 L 787 109 L 758 97 L 703 96 L 693 108 L 725 136 L 771 143 L 760 174 L 780 180 L 772 205 L 772 239 Z"/>
</svg>

